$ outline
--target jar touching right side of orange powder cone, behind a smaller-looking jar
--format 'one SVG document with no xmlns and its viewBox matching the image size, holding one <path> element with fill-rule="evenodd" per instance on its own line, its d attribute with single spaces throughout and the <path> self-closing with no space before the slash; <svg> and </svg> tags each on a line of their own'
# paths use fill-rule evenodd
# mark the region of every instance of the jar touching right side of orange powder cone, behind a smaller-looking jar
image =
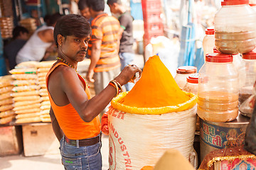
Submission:
<svg viewBox="0 0 256 170">
<path fill-rule="evenodd" d="M 197 72 L 197 68 L 193 67 L 193 66 L 181 66 L 178 67 L 178 69 L 176 70 L 176 76 L 174 77 L 174 80 L 176 81 L 176 83 L 178 84 L 178 87 L 180 89 L 183 89 L 183 87 L 186 84 L 186 78 Z"/>
</svg>

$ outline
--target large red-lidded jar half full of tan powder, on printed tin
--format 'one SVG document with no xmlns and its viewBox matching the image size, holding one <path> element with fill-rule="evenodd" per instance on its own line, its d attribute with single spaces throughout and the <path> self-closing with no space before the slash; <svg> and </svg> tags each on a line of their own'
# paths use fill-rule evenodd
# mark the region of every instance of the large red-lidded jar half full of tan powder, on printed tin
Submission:
<svg viewBox="0 0 256 170">
<path fill-rule="evenodd" d="M 198 116 L 210 122 L 229 122 L 238 116 L 238 72 L 233 56 L 206 55 L 199 71 Z"/>
</svg>

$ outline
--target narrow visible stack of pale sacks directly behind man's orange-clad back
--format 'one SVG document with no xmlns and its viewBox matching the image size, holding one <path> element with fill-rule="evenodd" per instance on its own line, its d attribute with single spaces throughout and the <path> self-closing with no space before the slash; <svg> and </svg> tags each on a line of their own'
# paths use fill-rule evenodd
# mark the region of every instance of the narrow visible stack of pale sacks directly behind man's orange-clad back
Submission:
<svg viewBox="0 0 256 170">
<path fill-rule="evenodd" d="M 39 62 L 38 67 L 38 81 L 39 94 L 41 96 L 41 120 L 43 122 L 50 122 L 50 101 L 46 89 L 46 74 L 55 61 Z"/>
</svg>

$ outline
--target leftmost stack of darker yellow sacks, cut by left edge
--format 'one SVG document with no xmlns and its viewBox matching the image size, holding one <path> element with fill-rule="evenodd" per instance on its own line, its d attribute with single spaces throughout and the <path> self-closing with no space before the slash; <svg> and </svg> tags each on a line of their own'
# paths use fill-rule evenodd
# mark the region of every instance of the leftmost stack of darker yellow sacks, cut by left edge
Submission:
<svg viewBox="0 0 256 170">
<path fill-rule="evenodd" d="M 0 77 L 0 124 L 10 123 L 15 118 L 15 113 L 12 111 L 14 108 L 11 97 L 12 81 L 11 76 Z"/>
</svg>

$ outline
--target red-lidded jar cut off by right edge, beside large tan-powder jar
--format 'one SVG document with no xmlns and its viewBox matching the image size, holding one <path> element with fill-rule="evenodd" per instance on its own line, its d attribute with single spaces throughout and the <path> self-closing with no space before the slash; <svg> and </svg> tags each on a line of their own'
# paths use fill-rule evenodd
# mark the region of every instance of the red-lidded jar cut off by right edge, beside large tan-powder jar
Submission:
<svg viewBox="0 0 256 170">
<path fill-rule="evenodd" d="M 243 54 L 242 62 L 245 67 L 240 72 L 242 72 L 242 77 L 245 77 L 245 84 L 239 91 L 239 111 L 247 115 L 252 114 L 250 101 L 247 99 L 253 95 L 253 85 L 256 81 L 256 51 Z"/>
</svg>

